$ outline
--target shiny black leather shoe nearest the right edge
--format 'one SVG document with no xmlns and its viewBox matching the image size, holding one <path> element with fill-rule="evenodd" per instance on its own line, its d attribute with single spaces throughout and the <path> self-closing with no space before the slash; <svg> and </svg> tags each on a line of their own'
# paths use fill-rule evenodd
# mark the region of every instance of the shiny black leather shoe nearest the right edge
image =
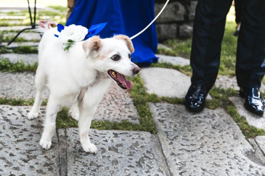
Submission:
<svg viewBox="0 0 265 176">
<path fill-rule="evenodd" d="M 245 90 L 244 93 L 245 108 L 255 114 L 263 115 L 265 103 L 263 101 L 259 88 L 250 88 L 248 90 Z"/>
</svg>

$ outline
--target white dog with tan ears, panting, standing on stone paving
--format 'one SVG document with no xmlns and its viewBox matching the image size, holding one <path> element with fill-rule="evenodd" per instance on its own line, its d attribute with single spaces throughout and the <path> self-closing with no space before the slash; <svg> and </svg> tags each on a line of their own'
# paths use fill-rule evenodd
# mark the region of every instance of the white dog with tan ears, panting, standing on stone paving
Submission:
<svg viewBox="0 0 265 176">
<path fill-rule="evenodd" d="M 39 66 L 35 77 L 37 95 L 27 118 L 38 117 L 47 86 L 51 93 L 44 131 L 39 142 L 41 147 L 46 150 L 51 147 L 55 119 L 60 107 L 72 105 L 72 117 L 78 120 L 82 148 L 85 152 L 97 153 L 96 146 L 88 137 L 97 105 L 112 81 L 122 89 L 130 89 L 132 82 L 125 76 L 135 76 L 140 71 L 130 61 L 131 53 L 134 52 L 132 41 L 126 35 L 105 39 L 93 36 L 85 41 L 75 42 L 68 52 L 62 49 L 62 43 L 54 37 L 57 27 L 51 28 L 53 23 L 49 22 L 44 26 L 45 32 L 39 43 Z M 83 93 L 85 95 L 82 101 L 77 100 Z"/>
</svg>

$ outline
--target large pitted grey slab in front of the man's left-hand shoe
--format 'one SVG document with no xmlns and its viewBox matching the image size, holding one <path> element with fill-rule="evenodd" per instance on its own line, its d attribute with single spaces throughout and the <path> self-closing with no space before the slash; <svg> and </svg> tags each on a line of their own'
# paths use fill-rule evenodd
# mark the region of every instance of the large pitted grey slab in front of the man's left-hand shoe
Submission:
<svg viewBox="0 0 265 176">
<path fill-rule="evenodd" d="M 184 105 L 150 103 L 172 175 L 264 175 L 238 125 L 224 109 L 188 112 Z"/>
</svg>

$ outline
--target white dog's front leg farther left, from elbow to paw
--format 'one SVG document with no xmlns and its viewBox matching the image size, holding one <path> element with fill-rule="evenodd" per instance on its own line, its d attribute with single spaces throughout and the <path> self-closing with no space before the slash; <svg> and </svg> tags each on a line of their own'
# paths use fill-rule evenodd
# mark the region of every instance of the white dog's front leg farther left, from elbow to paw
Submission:
<svg viewBox="0 0 265 176">
<path fill-rule="evenodd" d="M 45 150 L 49 150 L 52 145 L 52 135 L 55 131 L 55 120 L 58 111 L 60 110 L 60 105 L 53 98 L 52 94 L 49 96 L 47 104 L 46 119 L 44 121 L 44 129 L 42 133 L 42 138 L 39 142 L 39 145 Z"/>
</svg>

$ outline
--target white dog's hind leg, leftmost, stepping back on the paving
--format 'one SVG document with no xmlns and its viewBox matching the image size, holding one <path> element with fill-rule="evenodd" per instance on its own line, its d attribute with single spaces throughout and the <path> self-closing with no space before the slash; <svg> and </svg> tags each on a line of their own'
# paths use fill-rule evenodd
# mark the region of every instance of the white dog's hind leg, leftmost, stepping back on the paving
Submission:
<svg viewBox="0 0 265 176">
<path fill-rule="evenodd" d="M 37 88 L 37 94 L 32 109 L 31 111 L 29 111 L 29 114 L 27 115 L 27 119 L 29 120 L 36 119 L 39 116 L 39 107 L 41 106 L 44 98 L 43 92 L 45 90 L 45 84 L 46 84 L 45 74 L 42 71 L 42 69 L 38 67 L 35 76 L 35 85 Z"/>
</svg>

